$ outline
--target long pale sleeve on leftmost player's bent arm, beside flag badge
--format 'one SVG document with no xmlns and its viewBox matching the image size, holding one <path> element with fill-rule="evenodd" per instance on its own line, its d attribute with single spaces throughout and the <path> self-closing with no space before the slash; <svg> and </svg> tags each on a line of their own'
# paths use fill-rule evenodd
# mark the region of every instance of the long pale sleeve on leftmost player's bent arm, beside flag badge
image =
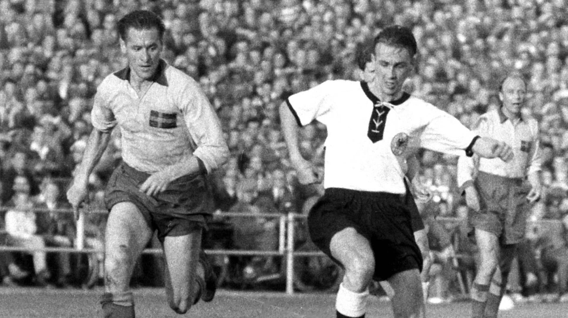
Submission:
<svg viewBox="0 0 568 318">
<path fill-rule="evenodd" d="M 193 154 L 203 161 L 210 173 L 223 165 L 229 157 L 229 148 L 223 137 L 219 117 L 201 88 L 188 81 L 179 94 L 183 120 L 197 148 Z"/>
</svg>

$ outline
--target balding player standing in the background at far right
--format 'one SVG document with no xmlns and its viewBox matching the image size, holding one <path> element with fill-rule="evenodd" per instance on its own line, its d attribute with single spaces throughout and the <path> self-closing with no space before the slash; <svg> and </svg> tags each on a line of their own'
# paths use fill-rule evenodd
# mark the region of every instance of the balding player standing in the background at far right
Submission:
<svg viewBox="0 0 568 318">
<path fill-rule="evenodd" d="M 477 169 L 474 158 L 458 160 L 458 185 L 465 189 L 469 223 L 480 253 L 471 288 L 471 317 L 475 318 L 497 317 L 516 244 L 524 239 L 528 210 L 541 195 L 538 124 L 521 118 L 526 94 L 522 77 L 506 77 L 499 87 L 502 106 L 483 114 L 475 128 L 480 136 L 511 145 L 514 160 L 479 158 Z"/>
</svg>

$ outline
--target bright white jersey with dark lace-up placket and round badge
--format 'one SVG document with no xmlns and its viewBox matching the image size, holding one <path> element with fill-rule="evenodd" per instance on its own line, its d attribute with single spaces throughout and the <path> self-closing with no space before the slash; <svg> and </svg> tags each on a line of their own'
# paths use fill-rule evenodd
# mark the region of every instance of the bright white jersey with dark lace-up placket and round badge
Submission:
<svg viewBox="0 0 568 318">
<path fill-rule="evenodd" d="M 327 127 L 325 188 L 403 194 L 410 153 L 422 147 L 459 156 L 475 137 L 453 116 L 408 94 L 374 107 L 381 102 L 365 82 L 326 81 L 291 95 L 287 103 L 299 125 L 318 120 Z M 371 112 L 387 109 L 385 123 L 377 124 L 383 128 L 380 140 L 373 143 L 367 136 L 375 130 Z"/>
</svg>

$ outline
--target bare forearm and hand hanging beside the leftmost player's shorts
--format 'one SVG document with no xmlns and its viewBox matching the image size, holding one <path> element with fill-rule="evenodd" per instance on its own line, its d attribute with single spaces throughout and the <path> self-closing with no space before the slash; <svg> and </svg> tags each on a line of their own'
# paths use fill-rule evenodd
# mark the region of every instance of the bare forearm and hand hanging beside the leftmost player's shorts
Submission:
<svg viewBox="0 0 568 318">
<path fill-rule="evenodd" d="M 79 205 L 87 198 L 88 195 L 87 185 L 89 184 L 89 175 L 93 172 L 93 169 L 99 160 L 101 160 L 109 140 L 110 131 L 102 132 L 98 129 L 93 129 L 93 131 L 91 131 L 85 152 L 83 153 L 83 160 L 76 170 L 76 174 L 73 177 L 69 190 L 67 190 L 67 200 L 73 207 L 75 219 L 78 218 Z"/>
</svg>

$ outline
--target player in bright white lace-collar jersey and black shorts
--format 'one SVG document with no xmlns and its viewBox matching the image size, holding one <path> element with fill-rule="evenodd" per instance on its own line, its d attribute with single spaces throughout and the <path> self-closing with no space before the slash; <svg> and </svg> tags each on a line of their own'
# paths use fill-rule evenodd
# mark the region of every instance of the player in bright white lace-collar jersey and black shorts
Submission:
<svg viewBox="0 0 568 318">
<path fill-rule="evenodd" d="M 404 161 L 411 148 L 512 157 L 505 143 L 476 136 L 456 118 L 402 91 L 415 69 L 415 54 L 408 28 L 387 27 L 375 37 L 371 83 L 326 81 L 291 95 L 280 108 L 301 183 L 318 178 L 299 152 L 298 125 L 316 119 L 327 126 L 325 194 L 310 211 L 308 228 L 318 248 L 345 269 L 337 317 L 365 316 L 372 279 L 393 287 L 395 317 L 423 315 L 422 258 L 404 198 Z"/>
</svg>

